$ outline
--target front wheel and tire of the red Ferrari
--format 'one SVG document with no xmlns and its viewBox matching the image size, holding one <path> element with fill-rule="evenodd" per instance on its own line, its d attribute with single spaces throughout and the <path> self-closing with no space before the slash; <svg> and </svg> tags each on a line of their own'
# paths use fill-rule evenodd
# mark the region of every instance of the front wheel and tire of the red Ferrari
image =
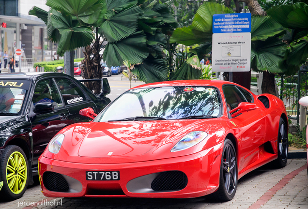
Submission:
<svg viewBox="0 0 308 209">
<path fill-rule="evenodd" d="M 236 192 L 237 188 L 237 159 L 234 146 L 230 139 L 224 142 L 224 149 L 222 151 L 219 187 L 218 190 L 212 194 L 212 197 L 220 202 L 230 201 Z"/>
</svg>

